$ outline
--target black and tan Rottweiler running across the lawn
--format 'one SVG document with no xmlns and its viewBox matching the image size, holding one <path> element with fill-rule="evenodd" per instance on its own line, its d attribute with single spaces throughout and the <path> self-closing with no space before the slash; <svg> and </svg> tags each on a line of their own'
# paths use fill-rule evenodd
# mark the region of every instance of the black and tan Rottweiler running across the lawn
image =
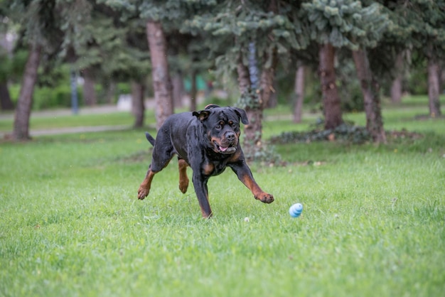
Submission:
<svg viewBox="0 0 445 297">
<path fill-rule="evenodd" d="M 139 186 L 138 198 L 143 200 L 149 195 L 154 175 L 165 168 L 176 154 L 179 190 L 182 193 L 187 191 L 189 179 L 186 169 L 190 166 L 195 193 L 205 218 L 213 215 L 208 200 L 208 179 L 223 173 L 227 166 L 249 188 L 255 199 L 264 203 L 273 202 L 274 196 L 259 188 L 247 166 L 239 140 L 240 121 L 249 124 L 244 109 L 209 104 L 198 112 L 183 112 L 168 117 L 159 129 L 156 140 L 146 132 L 146 139 L 154 150 L 149 170 Z"/>
</svg>

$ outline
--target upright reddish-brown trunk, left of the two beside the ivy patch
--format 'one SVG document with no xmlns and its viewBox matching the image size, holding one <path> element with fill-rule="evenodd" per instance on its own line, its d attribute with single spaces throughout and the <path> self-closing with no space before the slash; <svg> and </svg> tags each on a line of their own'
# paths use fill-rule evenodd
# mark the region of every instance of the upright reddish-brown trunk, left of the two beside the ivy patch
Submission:
<svg viewBox="0 0 445 297">
<path fill-rule="evenodd" d="M 334 68 L 335 51 L 336 50 L 331 43 L 321 45 L 319 51 L 319 75 L 323 96 L 325 129 L 334 129 L 343 123 L 341 102 L 340 97 L 338 97 L 336 72 Z"/>
</svg>

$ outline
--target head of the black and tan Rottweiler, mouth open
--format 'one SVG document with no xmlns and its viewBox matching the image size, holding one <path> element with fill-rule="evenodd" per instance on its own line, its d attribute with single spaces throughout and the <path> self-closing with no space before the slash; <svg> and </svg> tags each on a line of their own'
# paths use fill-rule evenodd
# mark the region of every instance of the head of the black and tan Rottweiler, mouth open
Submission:
<svg viewBox="0 0 445 297">
<path fill-rule="evenodd" d="M 209 104 L 204 110 L 193 112 L 193 115 L 203 124 L 205 136 L 215 153 L 230 154 L 237 151 L 240 121 L 249 124 L 244 109 Z"/>
</svg>

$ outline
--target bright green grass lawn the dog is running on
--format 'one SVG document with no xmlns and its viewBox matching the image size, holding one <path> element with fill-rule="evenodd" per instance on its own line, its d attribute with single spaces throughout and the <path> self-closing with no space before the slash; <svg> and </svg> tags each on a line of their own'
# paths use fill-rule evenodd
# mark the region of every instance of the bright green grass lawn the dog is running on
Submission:
<svg viewBox="0 0 445 297">
<path fill-rule="evenodd" d="M 422 108 L 385 109 L 422 139 L 277 146 L 289 166 L 251 164 L 271 205 L 230 170 L 210 179 L 211 220 L 176 161 L 136 199 L 142 131 L 1 143 L 0 296 L 443 296 L 445 121 L 414 120 Z"/>
</svg>

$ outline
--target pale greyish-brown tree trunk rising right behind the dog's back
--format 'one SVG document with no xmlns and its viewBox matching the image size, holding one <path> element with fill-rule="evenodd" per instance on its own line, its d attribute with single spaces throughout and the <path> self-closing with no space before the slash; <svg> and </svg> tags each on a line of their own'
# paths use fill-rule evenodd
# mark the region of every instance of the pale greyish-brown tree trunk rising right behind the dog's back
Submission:
<svg viewBox="0 0 445 297">
<path fill-rule="evenodd" d="M 147 21 L 146 35 L 149 41 L 154 100 L 156 103 L 156 129 L 159 130 L 166 118 L 173 114 L 173 95 L 171 78 L 168 72 L 167 45 L 159 22 Z"/>
</svg>

